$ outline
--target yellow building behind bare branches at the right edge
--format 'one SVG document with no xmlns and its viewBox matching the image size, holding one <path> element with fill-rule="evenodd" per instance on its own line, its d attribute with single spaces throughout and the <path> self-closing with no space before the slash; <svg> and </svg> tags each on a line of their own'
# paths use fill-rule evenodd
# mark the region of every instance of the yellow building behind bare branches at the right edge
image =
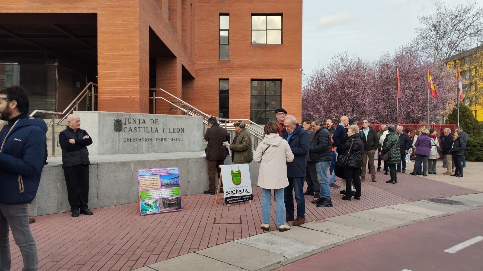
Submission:
<svg viewBox="0 0 483 271">
<path fill-rule="evenodd" d="M 454 68 L 459 65 L 465 104 L 483 122 L 483 45 L 456 54 L 446 65 Z"/>
</svg>

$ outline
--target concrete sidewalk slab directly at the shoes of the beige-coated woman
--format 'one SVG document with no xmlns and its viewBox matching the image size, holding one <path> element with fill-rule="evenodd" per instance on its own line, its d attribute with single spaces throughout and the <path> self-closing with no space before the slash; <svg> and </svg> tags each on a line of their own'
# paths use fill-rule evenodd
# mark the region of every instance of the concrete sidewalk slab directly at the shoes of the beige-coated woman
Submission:
<svg viewBox="0 0 483 271">
<path fill-rule="evenodd" d="M 302 224 L 305 225 L 305 224 Z M 329 244 L 334 244 L 348 238 L 338 235 L 329 234 L 317 230 L 309 230 L 303 227 L 291 227 L 290 230 L 280 232 L 280 231 L 270 231 L 271 234 L 283 236 L 293 240 L 297 240 L 306 244 L 313 244 L 318 247 L 324 247 Z"/>
</svg>

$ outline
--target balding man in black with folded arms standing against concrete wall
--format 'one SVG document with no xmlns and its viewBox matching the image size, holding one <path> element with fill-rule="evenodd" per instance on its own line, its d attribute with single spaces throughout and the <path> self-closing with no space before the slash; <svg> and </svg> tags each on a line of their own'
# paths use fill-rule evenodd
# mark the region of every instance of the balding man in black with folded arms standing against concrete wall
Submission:
<svg viewBox="0 0 483 271">
<path fill-rule="evenodd" d="M 62 167 L 67 184 L 67 198 L 71 204 L 72 217 L 80 213 L 91 216 L 89 202 L 89 151 L 92 138 L 85 130 L 80 129 L 81 118 L 70 114 L 67 116 L 67 129 L 60 132 L 59 144 L 62 149 Z"/>
</svg>

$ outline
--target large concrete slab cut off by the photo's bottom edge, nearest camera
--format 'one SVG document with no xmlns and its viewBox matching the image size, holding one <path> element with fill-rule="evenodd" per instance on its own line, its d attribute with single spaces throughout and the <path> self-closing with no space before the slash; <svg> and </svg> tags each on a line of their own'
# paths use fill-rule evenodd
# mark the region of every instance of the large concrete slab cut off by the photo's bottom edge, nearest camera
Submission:
<svg viewBox="0 0 483 271">
<path fill-rule="evenodd" d="M 151 269 L 147 269 L 147 268 Z M 196 253 L 188 253 L 182 256 L 174 257 L 171 259 L 164 260 L 162 262 L 154 263 L 148 265 L 148 267 L 143 267 L 144 269 L 137 269 L 136 271 L 166 271 L 166 270 L 176 270 L 176 271 L 213 271 L 213 270 L 223 270 L 223 271 L 244 271 L 240 267 L 229 265 L 225 262 L 221 262 L 209 257 L 205 257 Z M 193 269 L 195 268 L 195 269 Z"/>
</svg>

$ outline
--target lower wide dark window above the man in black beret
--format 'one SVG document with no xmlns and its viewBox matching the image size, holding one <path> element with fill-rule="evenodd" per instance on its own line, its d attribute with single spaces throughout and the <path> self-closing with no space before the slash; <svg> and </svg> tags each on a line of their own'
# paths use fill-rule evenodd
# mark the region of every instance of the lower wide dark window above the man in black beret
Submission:
<svg viewBox="0 0 483 271">
<path fill-rule="evenodd" d="M 282 107 L 282 80 L 251 81 L 251 119 L 258 124 L 276 121 L 275 110 Z"/>
</svg>

